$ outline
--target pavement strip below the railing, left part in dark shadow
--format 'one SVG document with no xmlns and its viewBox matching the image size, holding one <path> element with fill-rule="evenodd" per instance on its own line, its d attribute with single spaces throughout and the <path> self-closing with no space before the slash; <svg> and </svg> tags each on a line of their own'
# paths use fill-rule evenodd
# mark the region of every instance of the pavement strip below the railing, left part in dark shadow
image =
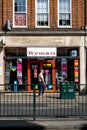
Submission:
<svg viewBox="0 0 87 130">
<path fill-rule="evenodd" d="M 87 130 L 87 118 L 57 118 L 31 120 L 28 117 L 0 117 L 1 128 L 28 128 L 29 130 Z"/>
</svg>

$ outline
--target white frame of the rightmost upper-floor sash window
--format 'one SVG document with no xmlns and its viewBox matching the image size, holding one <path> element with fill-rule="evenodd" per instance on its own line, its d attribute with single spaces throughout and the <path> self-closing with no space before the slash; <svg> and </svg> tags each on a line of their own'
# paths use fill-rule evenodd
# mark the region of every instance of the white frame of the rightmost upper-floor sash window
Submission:
<svg viewBox="0 0 87 130">
<path fill-rule="evenodd" d="M 72 28 L 72 0 L 70 0 L 70 12 L 61 12 L 61 13 L 70 13 L 70 25 L 59 25 L 59 0 L 58 0 L 58 27 L 59 28 Z"/>
</svg>

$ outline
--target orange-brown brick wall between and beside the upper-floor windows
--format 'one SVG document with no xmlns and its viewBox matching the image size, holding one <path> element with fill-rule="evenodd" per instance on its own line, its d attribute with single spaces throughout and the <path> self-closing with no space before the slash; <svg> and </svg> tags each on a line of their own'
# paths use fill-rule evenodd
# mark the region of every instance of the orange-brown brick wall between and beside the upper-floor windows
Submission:
<svg viewBox="0 0 87 130">
<path fill-rule="evenodd" d="M 28 28 L 25 30 L 35 30 L 35 0 L 27 0 L 27 1 L 28 1 L 27 3 Z M 49 0 L 49 1 L 50 1 L 50 29 L 47 29 L 47 30 L 59 30 L 58 9 L 57 9 L 58 0 Z M 0 14 L 0 30 L 2 30 L 2 27 L 4 29 L 7 19 L 11 20 L 11 24 L 13 26 L 13 10 L 12 9 L 13 9 L 13 0 L 0 1 L 0 13 L 2 12 L 2 15 Z M 86 11 L 87 11 L 87 4 L 86 4 Z M 84 0 L 72 0 L 72 27 L 73 27 L 72 29 L 83 29 L 84 21 L 85 21 Z M 86 22 L 87 22 L 87 18 L 86 18 Z"/>
</svg>

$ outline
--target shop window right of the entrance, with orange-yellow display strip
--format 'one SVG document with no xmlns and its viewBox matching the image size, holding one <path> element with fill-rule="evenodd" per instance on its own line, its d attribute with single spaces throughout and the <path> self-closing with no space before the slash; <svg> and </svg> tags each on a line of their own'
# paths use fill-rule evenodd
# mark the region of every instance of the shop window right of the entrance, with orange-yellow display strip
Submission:
<svg viewBox="0 0 87 130">
<path fill-rule="evenodd" d="M 60 82 L 65 80 L 79 83 L 79 48 L 58 48 L 57 56 L 59 57 L 56 60 L 57 88 L 60 87 Z"/>
</svg>

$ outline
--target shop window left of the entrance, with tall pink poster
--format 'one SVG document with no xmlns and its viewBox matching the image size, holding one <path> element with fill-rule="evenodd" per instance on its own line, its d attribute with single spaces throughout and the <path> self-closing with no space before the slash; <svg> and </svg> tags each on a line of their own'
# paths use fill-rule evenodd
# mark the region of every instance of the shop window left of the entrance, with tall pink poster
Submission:
<svg viewBox="0 0 87 130">
<path fill-rule="evenodd" d="M 14 90 L 14 81 L 18 83 L 18 91 L 27 90 L 27 60 L 10 59 L 5 61 L 6 90 Z"/>
</svg>

